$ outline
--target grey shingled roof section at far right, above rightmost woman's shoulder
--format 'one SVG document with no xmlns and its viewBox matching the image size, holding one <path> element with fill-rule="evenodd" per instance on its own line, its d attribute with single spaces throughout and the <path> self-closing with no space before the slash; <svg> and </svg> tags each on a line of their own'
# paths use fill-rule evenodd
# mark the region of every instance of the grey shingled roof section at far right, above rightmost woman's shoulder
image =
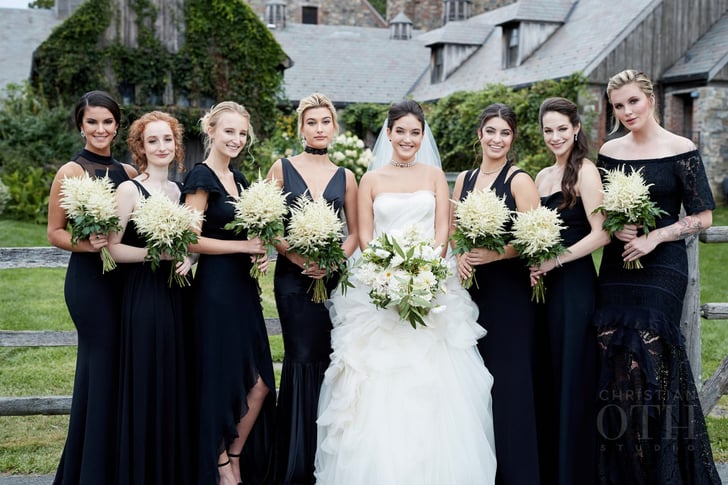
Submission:
<svg viewBox="0 0 728 485">
<path fill-rule="evenodd" d="M 695 79 L 710 81 L 727 65 L 728 14 L 724 14 L 679 61 L 665 71 L 662 78 L 670 82 Z"/>
</svg>

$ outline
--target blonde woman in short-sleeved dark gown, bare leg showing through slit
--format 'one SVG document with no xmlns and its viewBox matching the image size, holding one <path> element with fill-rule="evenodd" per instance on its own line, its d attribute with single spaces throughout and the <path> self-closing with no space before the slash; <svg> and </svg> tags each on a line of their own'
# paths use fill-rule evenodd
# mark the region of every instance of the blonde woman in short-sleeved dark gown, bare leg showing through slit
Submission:
<svg viewBox="0 0 728 485">
<path fill-rule="evenodd" d="M 200 254 L 193 282 L 199 422 L 200 485 L 267 480 L 270 463 L 275 381 L 257 280 L 257 259 L 268 267 L 260 238 L 225 229 L 235 201 L 248 187 L 230 166 L 252 138 L 250 114 L 225 101 L 201 120 L 207 159 L 189 172 L 185 203 L 204 213 L 202 232 L 190 249 Z"/>
</svg>

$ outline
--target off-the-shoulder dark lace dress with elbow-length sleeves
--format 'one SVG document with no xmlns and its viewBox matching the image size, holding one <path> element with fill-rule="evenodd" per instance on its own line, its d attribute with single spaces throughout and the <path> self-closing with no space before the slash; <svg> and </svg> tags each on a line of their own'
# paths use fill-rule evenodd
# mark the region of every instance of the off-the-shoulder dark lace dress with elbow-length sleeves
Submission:
<svg viewBox="0 0 728 485">
<path fill-rule="evenodd" d="M 605 169 L 642 169 L 665 227 L 715 208 L 700 154 L 651 160 L 600 155 Z M 604 248 L 594 322 L 601 354 L 598 467 L 603 484 L 720 483 L 693 381 L 680 317 L 687 288 L 685 242 L 659 244 L 624 269 L 624 243 Z"/>
</svg>

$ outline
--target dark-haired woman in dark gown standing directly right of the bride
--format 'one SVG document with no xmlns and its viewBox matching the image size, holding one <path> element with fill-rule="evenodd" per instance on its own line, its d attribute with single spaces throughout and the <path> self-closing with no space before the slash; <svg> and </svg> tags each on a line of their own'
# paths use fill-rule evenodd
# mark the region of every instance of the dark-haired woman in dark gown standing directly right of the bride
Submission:
<svg viewBox="0 0 728 485">
<path fill-rule="evenodd" d="M 527 211 L 539 205 L 531 177 L 508 160 L 515 137 L 516 114 L 510 107 L 492 104 L 483 110 L 478 122 L 483 161 L 480 167 L 458 175 L 454 200 L 464 199 L 472 190 L 493 190 L 505 196 L 510 210 Z M 458 257 L 461 280 L 473 268 L 477 284 L 470 287 L 470 296 L 480 311 L 478 323 L 488 331 L 478 349 L 494 379 L 496 484 L 538 485 L 535 315 L 528 268 L 511 245 L 503 254 L 476 248 Z"/>
</svg>

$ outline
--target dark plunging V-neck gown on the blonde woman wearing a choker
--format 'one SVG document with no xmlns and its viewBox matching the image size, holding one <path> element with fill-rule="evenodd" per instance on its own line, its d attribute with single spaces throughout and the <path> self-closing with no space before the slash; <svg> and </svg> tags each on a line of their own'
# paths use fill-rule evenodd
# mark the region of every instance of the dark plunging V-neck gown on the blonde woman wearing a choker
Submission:
<svg viewBox="0 0 728 485">
<path fill-rule="evenodd" d="M 281 163 L 283 191 L 290 206 L 308 187 L 288 159 Z M 345 193 L 346 172 L 339 168 L 321 196 L 341 211 Z M 316 416 L 331 354 L 331 320 L 323 303 L 311 301 L 313 281 L 285 256 L 278 257 L 274 290 L 285 356 L 276 409 L 276 484 L 315 483 Z M 327 282 L 329 293 L 336 283 L 335 277 Z"/>
</svg>

